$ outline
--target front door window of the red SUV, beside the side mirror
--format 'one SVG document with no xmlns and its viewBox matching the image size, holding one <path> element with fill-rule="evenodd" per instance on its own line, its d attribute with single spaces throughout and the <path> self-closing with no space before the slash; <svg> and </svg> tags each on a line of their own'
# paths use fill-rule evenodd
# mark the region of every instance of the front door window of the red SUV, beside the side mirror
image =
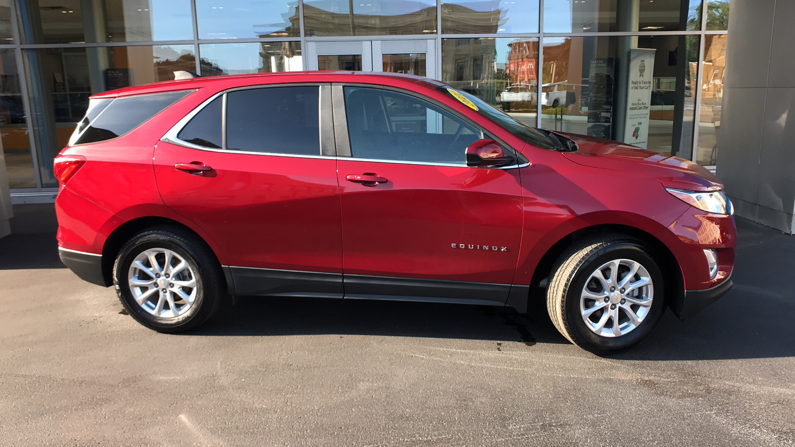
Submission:
<svg viewBox="0 0 795 447">
<path fill-rule="evenodd" d="M 351 156 L 466 165 L 467 146 L 481 138 L 475 126 L 412 95 L 345 87 Z"/>
</svg>

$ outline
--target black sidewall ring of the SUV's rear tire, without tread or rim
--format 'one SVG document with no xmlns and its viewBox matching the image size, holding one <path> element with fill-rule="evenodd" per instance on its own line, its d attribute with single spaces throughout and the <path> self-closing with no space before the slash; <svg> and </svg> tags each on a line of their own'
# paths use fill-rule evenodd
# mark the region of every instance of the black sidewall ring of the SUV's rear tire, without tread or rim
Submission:
<svg viewBox="0 0 795 447">
<path fill-rule="evenodd" d="M 198 289 L 196 290 L 196 298 L 193 301 L 191 308 L 188 309 L 188 312 L 180 315 L 179 317 L 155 317 L 143 309 L 141 305 L 138 305 L 138 302 L 135 301 L 135 298 L 133 297 L 132 290 L 130 290 L 130 284 L 127 278 L 130 272 L 130 265 L 133 263 L 133 260 L 142 253 L 142 251 L 146 251 L 151 248 L 165 248 L 176 252 L 178 255 L 182 256 L 186 262 L 188 262 L 188 265 L 192 268 L 194 276 L 196 277 L 196 287 Z M 124 305 L 125 309 L 127 309 L 128 313 L 130 313 L 130 316 L 142 325 L 156 330 L 177 330 L 180 327 L 189 325 L 192 323 L 192 321 L 196 320 L 202 311 L 204 304 L 204 294 L 205 290 L 207 290 L 204 282 L 204 272 L 200 268 L 199 263 L 196 262 L 196 258 L 197 257 L 192 253 L 190 246 L 182 243 L 179 239 L 174 239 L 167 235 L 140 235 L 126 243 L 126 245 L 122 248 L 122 251 L 119 253 L 118 258 L 116 258 L 117 260 L 114 264 L 113 279 L 116 292 L 121 298 L 122 305 Z"/>
</svg>

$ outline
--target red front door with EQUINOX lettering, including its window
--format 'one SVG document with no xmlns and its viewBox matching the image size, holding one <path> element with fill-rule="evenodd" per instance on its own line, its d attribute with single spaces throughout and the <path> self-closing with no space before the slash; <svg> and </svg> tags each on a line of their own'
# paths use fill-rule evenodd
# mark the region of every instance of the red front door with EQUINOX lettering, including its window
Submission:
<svg viewBox="0 0 795 447">
<path fill-rule="evenodd" d="M 490 138 L 389 88 L 335 85 L 350 157 L 338 157 L 345 297 L 504 303 L 522 235 L 519 169 L 467 166 Z"/>
</svg>

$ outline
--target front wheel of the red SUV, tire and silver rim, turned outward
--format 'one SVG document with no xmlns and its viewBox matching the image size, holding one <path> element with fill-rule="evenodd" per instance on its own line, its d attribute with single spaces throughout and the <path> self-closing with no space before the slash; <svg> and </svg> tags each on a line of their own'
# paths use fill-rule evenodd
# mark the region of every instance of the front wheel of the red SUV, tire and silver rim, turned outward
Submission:
<svg viewBox="0 0 795 447">
<path fill-rule="evenodd" d="M 560 255 L 547 289 L 555 327 L 572 343 L 606 354 L 643 340 L 660 320 L 663 275 L 649 250 L 625 235 L 595 235 Z"/>
</svg>

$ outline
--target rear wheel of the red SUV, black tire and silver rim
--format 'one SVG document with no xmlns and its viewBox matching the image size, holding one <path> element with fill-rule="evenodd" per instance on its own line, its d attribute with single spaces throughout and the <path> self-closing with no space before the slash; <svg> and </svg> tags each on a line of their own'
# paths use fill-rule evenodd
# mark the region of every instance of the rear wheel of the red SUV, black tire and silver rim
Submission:
<svg viewBox="0 0 795 447">
<path fill-rule="evenodd" d="M 215 255 L 180 227 L 134 235 L 118 254 L 113 277 L 130 316 L 159 332 L 195 328 L 217 311 L 226 293 Z"/>
</svg>

